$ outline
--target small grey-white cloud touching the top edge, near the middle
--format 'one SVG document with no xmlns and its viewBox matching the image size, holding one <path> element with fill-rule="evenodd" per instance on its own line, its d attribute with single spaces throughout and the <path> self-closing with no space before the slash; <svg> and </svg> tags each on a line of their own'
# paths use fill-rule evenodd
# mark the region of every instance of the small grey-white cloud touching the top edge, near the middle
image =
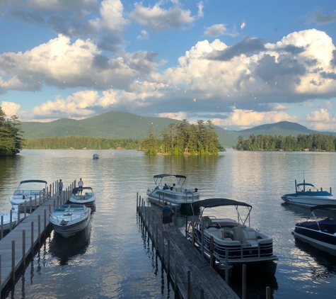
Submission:
<svg viewBox="0 0 336 299">
<path fill-rule="evenodd" d="M 202 4 L 198 4 L 199 16 L 202 16 Z M 183 10 L 178 4 L 163 9 L 161 2 L 153 7 L 145 7 L 141 3 L 136 3 L 134 11 L 129 14 L 136 23 L 150 28 L 153 31 L 174 30 L 183 28 L 185 24 L 193 23 L 196 16 L 191 16 L 190 10 Z"/>
</svg>

